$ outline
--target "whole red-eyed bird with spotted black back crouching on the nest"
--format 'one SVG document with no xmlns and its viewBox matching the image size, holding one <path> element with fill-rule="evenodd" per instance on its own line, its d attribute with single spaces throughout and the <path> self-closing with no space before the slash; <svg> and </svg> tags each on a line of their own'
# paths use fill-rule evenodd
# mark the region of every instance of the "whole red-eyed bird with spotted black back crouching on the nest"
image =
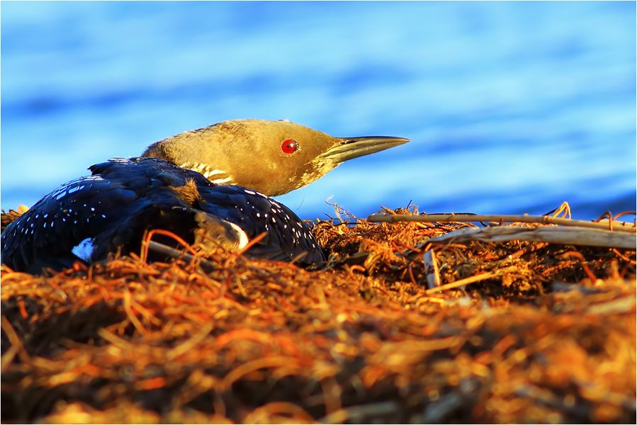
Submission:
<svg viewBox="0 0 637 425">
<path fill-rule="evenodd" d="M 332 137 L 284 120 L 229 120 L 183 132 L 140 157 L 94 164 L 90 176 L 48 193 L 4 229 L 1 261 L 28 273 L 60 270 L 139 251 L 146 232 L 166 229 L 198 249 L 247 247 L 252 258 L 316 265 L 325 253 L 310 228 L 271 196 L 408 141 Z"/>
</svg>

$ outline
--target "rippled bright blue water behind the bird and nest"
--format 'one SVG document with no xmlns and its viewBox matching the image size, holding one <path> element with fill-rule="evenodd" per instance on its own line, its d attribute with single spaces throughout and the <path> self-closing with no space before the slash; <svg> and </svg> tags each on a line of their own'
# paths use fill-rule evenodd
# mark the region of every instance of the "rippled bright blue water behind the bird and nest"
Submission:
<svg viewBox="0 0 637 425">
<path fill-rule="evenodd" d="M 279 199 L 575 217 L 636 208 L 636 5 L 1 6 L 1 206 L 235 118 L 412 142 Z"/>
</svg>

